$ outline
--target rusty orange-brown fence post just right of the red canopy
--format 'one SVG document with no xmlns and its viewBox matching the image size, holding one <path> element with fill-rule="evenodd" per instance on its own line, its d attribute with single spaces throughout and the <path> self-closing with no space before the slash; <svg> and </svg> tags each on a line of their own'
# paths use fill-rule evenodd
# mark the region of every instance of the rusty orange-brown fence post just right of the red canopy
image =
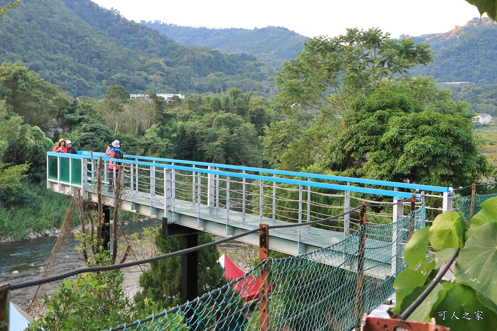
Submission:
<svg viewBox="0 0 497 331">
<path fill-rule="evenodd" d="M 265 261 L 260 266 L 259 272 L 259 330 L 266 331 L 269 328 L 269 226 L 259 224 L 264 229 L 259 231 L 259 262 Z"/>
</svg>

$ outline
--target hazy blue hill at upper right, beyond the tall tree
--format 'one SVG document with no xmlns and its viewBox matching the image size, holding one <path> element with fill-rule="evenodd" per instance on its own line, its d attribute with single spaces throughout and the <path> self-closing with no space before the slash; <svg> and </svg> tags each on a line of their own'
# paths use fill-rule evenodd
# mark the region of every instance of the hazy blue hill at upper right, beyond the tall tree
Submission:
<svg viewBox="0 0 497 331">
<path fill-rule="evenodd" d="M 497 84 L 497 24 L 490 18 L 474 18 L 449 32 L 411 38 L 430 44 L 434 56 L 432 63 L 413 68 L 411 74 L 432 75 L 439 82 Z"/>
</svg>

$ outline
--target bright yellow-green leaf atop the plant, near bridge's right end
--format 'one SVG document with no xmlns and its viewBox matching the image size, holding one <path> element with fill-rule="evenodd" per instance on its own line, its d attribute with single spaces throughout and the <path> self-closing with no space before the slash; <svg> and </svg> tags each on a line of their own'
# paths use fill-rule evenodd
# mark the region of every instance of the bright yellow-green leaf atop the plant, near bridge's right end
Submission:
<svg viewBox="0 0 497 331">
<path fill-rule="evenodd" d="M 428 239 L 435 251 L 464 246 L 464 235 L 468 225 L 455 211 L 445 211 L 435 217 L 428 230 Z"/>
</svg>

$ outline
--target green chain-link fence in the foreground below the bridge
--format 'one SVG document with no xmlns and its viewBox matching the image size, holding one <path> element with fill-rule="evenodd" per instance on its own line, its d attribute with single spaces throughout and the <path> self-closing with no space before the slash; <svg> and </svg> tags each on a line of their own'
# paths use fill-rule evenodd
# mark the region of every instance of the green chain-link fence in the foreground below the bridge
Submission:
<svg viewBox="0 0 497 331">
<path fill-rule="evenodd" d="M 425 226 L 425 208 L 399 221 L 361 227 L 329 247 L 286 259 L 268 259 L 267 330 L 350 330 L 393 292 L 395 276 L 402 271 L 404 247 L 410 233 Z M 269 230 L 271 231 L 271 230 Z M 360 259 L 363 231 L 364 259 Z M 252 331 L 259 326 L 259 299 L 242 296 L 260 287 L 259 270 L 142 323 L 116 326 L 119 330 Z M 362 273 L 362 287 L 357 284 Z M 358 272 L 359 270 L 359 272 Z M 236 289 L 236 290 L 235 290 Z M 247 296 L 247 295 L 246 295 Z M 116 328 L 111 330 L 117 330 Z"/>
</svg>

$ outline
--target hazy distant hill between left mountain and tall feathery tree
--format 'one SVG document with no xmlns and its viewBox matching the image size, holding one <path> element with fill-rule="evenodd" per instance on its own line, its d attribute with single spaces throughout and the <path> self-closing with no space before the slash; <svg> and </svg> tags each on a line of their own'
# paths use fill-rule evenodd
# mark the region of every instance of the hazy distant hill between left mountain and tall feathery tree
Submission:
<svg viewBox="0 0 497 331">
<path fill-rule="evenodd" d="M 279 26 L 249 29 L 209 29 L 142 21 L 180 44 L 206 46 L 228 54 L 250 54 L 269 66 L 279 67 L 283 61 L 296 58 L 309 37 Z"/>
</svg>

